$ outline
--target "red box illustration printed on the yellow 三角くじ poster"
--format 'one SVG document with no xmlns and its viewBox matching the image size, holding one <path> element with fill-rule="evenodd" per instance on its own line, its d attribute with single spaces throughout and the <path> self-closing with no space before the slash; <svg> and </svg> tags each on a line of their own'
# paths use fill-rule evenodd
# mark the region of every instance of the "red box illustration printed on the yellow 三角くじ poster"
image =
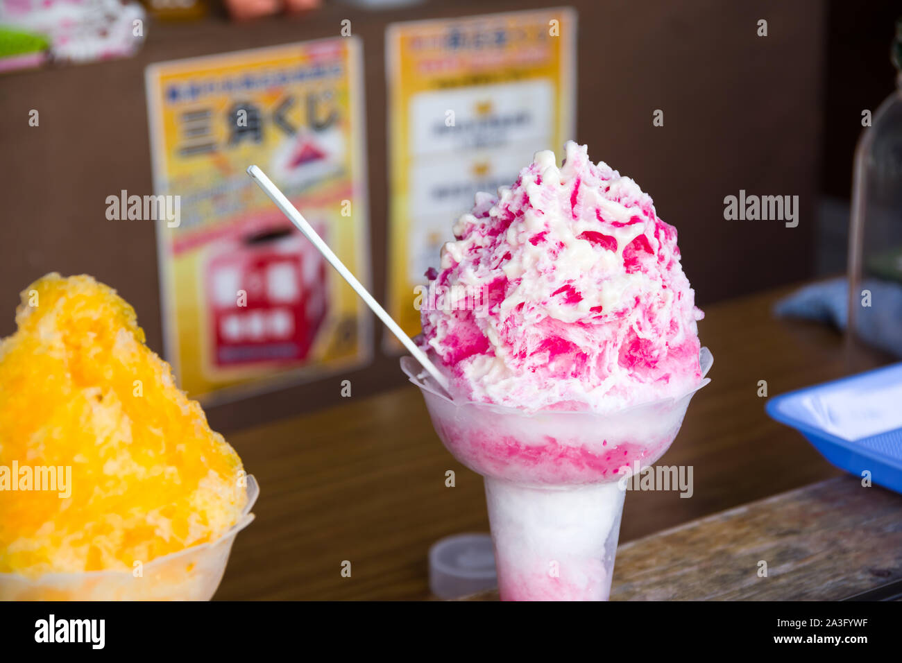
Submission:
<svg viewBox="0 0 902 663">
<path fill-rule="evenodd" d="M 326 262 L 307 238 L 281 227 L 218 244 L 205 282 L 211 368 L 307 359 L 327 315 Z"/>
</svg>

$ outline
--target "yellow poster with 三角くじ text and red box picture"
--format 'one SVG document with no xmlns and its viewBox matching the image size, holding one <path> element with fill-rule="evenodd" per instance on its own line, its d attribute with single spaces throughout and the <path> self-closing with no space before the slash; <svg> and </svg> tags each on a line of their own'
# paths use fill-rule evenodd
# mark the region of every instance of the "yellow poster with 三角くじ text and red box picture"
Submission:
<svg viewBox="0 0 902 663">
<path fill-rule="evenodd" d="M 146 85 L 154 189 L 180 211 L 157 238 L 182 389 L 222 401 L 367 361 L 363 302 L 245 172 L 260 166 L 368 281 L 360 43 L 161 62 Z"/>
</svg>

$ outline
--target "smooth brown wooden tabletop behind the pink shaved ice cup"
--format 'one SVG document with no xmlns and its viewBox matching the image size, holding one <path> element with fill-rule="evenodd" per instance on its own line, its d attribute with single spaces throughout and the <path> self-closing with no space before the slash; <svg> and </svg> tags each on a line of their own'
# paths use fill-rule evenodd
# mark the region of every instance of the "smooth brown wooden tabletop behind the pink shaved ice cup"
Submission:
<svg viewBox="0 0 902 663">
<path fill-rule="evenodd" d="M 790 290 L 706 309 L 699 332 L 714 355 L 713 382 L 695 395 L 661 461 L 693 465 L 695 493 L 630 492 L 621 544 L 842 474 L 769 419 L 758 395 L 762 380 L 776 395 L 848 373 L 837 332 L 773 318 L 774 302 Z M 885 361 L 861 352 L 855 368 Z M 412 385 L 229 441 L 261 496 L 217 599 L 427 599 L 429 546 L 489 529 L 482 478 L 442 447 Z M 446 487 L 447 470 L 456 473 L 454 487 Z"/>
</svg>

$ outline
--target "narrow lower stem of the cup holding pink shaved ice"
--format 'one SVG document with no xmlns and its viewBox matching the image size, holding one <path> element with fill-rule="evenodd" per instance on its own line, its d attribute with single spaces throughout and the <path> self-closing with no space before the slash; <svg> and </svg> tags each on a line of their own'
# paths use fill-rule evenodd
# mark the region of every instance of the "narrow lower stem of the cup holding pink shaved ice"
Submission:
<svg viewBox="0 0 902 663">
<path fill-rule="evenodd" d="M 607 601 L 624 492 L 485 477 L 502 601 Z"/>
</svg>

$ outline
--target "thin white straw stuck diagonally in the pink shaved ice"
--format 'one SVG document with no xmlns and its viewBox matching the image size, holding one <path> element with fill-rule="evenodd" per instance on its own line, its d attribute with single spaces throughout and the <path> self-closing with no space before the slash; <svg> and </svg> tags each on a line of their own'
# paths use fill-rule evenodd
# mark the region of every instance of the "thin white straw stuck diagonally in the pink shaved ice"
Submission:
<svg viewBox="0 0 902 663">
<path fill-rule="evenodd" d="M 298 226 L 299 231 L 317 247 L 319 253 L 322 253 L 329 264 L 336 268 L 336 271 L 341 274 L 342 278 L 345 279 L 352 288 L 354 288 L 361 299 L 366 302 L 366 305 L 373 309 L 373 313 L 385 323 L 385 327 L 391 329 L 391 333 L 398 337 L 398 340 L 407 348 L 410 355 L 413 355 L 413 358 L 436 379 L 442 388 L 445 391 L 448 391 L 448 381 L 442 373 L 438 372 L 436 365 L 429 361 L 426 354 L 410 340 L 410 336 L 407 336 L 407 334 L 404 333 L 404 330 L 398 326 L 398 323 L 391 319 L 391 316 L 379 305 L 379 302 L 373 299 L 373 295 L 364 288 L 360 281 L 357 281 L 354 274 L 345 267 L 345 263 L 338 260 L 338 256 L 335 253 L 332 253 L 332 249 L 328 247 L 328 244 L 323 242 L 322 238 L 317 235 L 317 231 L 308 224 L 307 219 L 301 216 L 297 207 L 294 207 L 291 204 L 291 201 L 288 198 L 285 198 L 285 194 L 272 183 L 272 180 L 266 177 L 266 173 L 257 168 L 257 166 L 249 166 L 247 174 L 256 181 L 257 186 L 263 189 L 272 202 L 276 204 L 276 207 L 281 209 L 282 214 L 288 216 L 290 222 L 295 226 Z"/>
</svg>

